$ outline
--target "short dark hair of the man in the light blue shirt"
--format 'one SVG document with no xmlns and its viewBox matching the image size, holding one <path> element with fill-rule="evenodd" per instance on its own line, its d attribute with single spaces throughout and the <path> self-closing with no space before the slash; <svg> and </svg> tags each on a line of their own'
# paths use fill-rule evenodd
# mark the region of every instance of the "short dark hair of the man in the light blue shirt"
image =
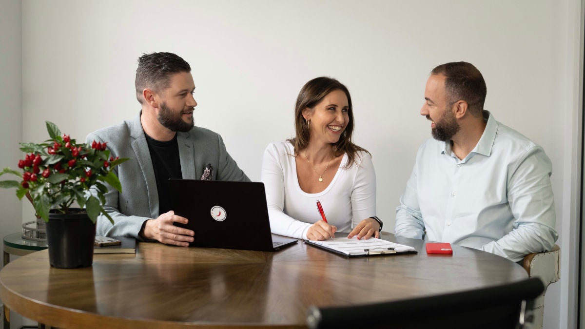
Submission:
<svg viewBox="0 0 585 329">
<path fill-rule="evenodd" d="M 441 64 L 431 71 L 431 74 L 445 76 L 445 90 L 449 104 L 457 101 L 466 101 L 470 112 L 480 116 L 483 104 L 486 101 L 486 81 L 475 66 L 464 61 Z"/>
</svg>

